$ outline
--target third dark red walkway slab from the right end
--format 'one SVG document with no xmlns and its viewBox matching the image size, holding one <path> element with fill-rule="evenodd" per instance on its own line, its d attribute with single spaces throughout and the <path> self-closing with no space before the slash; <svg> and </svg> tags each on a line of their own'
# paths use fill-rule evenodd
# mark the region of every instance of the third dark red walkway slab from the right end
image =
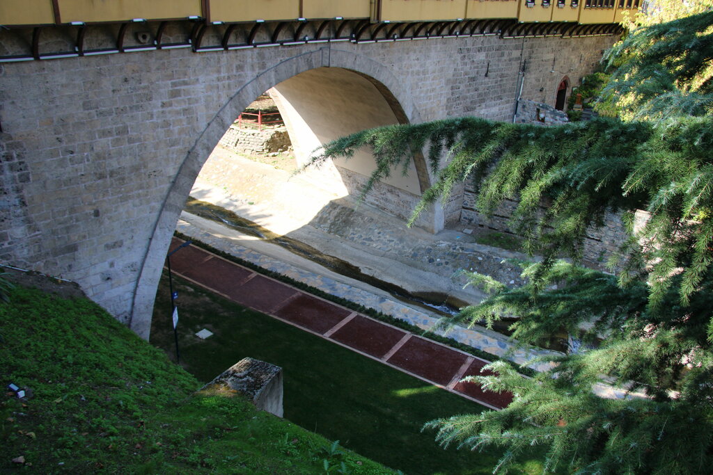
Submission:
<svg viewBox="0 0 713 475">
<path fill-rule="evenodd" d="M 356 315 L 349 323 L 332 334 L 332 340 L 381 359 L 404 338 L 406 332 L 384 325 L 371 318 Z"/>
</svg>

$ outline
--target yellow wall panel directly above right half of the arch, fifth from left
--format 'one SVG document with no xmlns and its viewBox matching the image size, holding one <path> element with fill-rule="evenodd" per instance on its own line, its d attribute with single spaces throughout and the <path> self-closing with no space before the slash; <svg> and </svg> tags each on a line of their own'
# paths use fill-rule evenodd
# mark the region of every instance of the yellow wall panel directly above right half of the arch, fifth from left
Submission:
<svg viewBox="0 0 713 475">
<path fill-rule="evenodd" d="M 454 20 L 466 17 L 466 0 L 381 0 L 381 21 Z"/>
</svg>

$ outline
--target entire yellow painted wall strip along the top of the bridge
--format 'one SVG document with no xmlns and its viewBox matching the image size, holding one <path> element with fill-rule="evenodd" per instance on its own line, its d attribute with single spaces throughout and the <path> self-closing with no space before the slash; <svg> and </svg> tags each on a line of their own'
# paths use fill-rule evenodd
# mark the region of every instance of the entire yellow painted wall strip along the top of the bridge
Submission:
<svg viewBox="0 0 713 475">
<path fill-rule="evenodd" d="M 373 0 L 376 1 L 376 0 Z M 542 0 L 528 8 L 526 0 L 381 0 L 382 21 L 438 21 L 453 19 L 518 18 L 519 21 L 579 21 L 581 24 L 618 23 L 625 11 L 637 9 L 573 9 L 571 0 L 558 8 Z M 302 3 L 302 11 L 300 11 Z M 372 0 L 210 0 L 210 21 L 265 21 L 369 18 Z M 204 16 L 200 0 L 58 0 L 61 22 L 180 19 Z M 0 25 L 53 24 L 51 0 L 0 0 Z"/>
</svg>

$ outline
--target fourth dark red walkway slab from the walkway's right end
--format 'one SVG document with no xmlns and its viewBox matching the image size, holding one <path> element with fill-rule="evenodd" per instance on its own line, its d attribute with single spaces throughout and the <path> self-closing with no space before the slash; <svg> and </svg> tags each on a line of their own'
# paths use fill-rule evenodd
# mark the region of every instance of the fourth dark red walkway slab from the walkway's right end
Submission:
<svg viewBox="0 0 713 475">
<path fill-rule="evenodd" d="M 275 311 L 275 315 L 320 335 L 347 318 L 352 310 L 305 295 L 293 298 Z"/>
</svg>

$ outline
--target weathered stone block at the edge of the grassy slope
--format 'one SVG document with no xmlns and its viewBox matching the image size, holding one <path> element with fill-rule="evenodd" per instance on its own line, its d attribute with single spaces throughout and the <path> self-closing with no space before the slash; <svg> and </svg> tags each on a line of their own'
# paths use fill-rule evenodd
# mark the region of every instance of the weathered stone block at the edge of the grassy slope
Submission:
<svg viewBox="0 0 713 475">
<path fill-rule="evenodd" d="M 232 365 L 201 391 L 247 397 L 257 409 L 282 417 L 282 368 L 251 357 Z"/>
</svg>

